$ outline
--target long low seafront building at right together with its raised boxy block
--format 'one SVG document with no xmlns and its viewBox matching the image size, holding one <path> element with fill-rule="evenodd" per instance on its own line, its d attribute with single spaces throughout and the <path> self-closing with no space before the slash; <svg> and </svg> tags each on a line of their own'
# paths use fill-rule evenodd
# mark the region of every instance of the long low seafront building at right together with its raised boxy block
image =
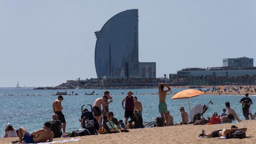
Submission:
<svg viewBox="0 0 256 144">
<path fill-rule="evenodd" d="M 184 68 L 177 74 L 170 74 L 172 79 L 185 79 L 187 84 L 254 84 L 256 83 L 256 67 L 253 59 L 223 59 L 223 67 Z M 183 83 L 184 84 L 184 83 Z"/>
</svg>

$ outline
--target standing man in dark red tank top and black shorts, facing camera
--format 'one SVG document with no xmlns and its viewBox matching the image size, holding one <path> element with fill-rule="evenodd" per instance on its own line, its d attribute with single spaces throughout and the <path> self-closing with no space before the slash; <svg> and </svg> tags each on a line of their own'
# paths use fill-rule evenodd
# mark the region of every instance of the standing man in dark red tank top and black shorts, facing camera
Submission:
<svg viewBox="0 0 256 144">
<path fill-rule="evenodd" d="M 137 105 L 137 100 L 132 96 L 132 91 L 127 92 L 126 97 L 122 100 L 122 107 L 125 109 L 124 111 L 124 118 L 125 118 L 125 125 L 128 124 L 128 118 L 132 119 L 134 116 L 134 109 L 136 108 Z M 125 107 L 124 107 L 124 101 L 125 101 Z"/>
</svg>

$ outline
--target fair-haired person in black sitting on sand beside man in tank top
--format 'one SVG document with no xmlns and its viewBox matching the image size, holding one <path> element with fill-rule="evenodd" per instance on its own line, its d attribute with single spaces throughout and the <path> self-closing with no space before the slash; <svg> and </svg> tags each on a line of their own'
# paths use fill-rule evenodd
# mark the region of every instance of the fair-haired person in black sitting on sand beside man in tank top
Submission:
<svg viewBox="0 0 256 144">
<path fill-rule="evenodd" d="M 142 116 L 139 115 L 139 111 L 137 109 L 134 110 L 134 116 L 128 122 L 128 124 L 124 128 L 128 128 L 129 125 L 132 124 L 133 128 L 144 128 Z"/>
</svg>

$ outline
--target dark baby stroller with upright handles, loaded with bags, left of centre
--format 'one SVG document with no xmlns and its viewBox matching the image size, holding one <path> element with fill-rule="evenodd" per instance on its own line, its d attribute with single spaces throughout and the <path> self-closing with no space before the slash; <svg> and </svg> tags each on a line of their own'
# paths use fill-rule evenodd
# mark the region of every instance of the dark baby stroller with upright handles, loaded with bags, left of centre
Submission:
<svg viewBox="0 0 256 144">
<path fill-rule="evenodd" d="M 92 105 L 89 105 L 89 106 L 91 106 L 91 110 L 92 110 Z M 81 107 L 81 109 L 82 109 L 81 120 L 82 120 L 82 118 L 84 118 L 84 116 L 86 116 L 86 118 L 84 119 L 84 121 L 82 121 L 82 127 L 84 129 L 89 130 L 92 133 L 92 135 L 95 135 L 95 134 L 98 135 L 98 130 L 100 127 L 98 121 L 93 116 L 92 111 L 83 112 L 83 107 L 84 107 L 84 105 Z"/>
</svg>

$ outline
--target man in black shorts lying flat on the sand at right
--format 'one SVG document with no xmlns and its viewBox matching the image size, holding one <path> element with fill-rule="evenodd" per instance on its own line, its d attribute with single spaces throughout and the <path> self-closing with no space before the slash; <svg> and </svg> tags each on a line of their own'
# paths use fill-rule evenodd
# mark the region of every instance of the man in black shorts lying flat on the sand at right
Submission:
<svg viewBox="0 0 256 144">
<path fill-rule="evenodd" d="M 234 131 L 238 131 L 238 130 L 242 130 L 244 132 L 246 132 L 247 128 L 243 127 L 243 128 L 240 128 L 238 129 L 235 125 L 232 125 L 231 126 L 231 129 L 223 129 L 223 130 L 217 130 L 217 131 L 213 131 L 211 133 L 207 133 L 204 129 L 202 130 L 202 133 L 204 134 L 204 136 L 207 136 L 207 137 L 212 137 L 212 138 L 215 138 L 215 137 L 228 137 L 228 134 L 231 133 L 231 132 L 234 132 Z"/>
</svg>

